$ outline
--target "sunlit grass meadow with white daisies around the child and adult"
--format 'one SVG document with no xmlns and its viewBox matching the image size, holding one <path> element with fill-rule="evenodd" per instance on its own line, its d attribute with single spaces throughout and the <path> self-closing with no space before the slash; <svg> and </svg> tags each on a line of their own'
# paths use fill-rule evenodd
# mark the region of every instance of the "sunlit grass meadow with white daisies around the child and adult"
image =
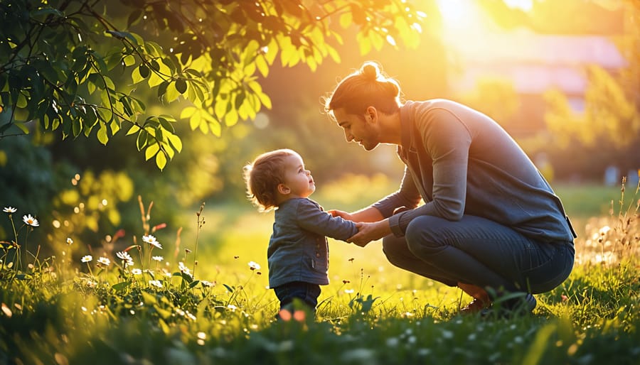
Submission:
<svg viewBox="0 0 640 365">
<path fill-rule="evenodd" d="M 349 179 L 314 199 L 349 210 L 388 192 L 383 176 Z M 276 321 L 272 215 L 247 202 L 196 207 L 174 241 L 157 241 L 143 214 L 144 235 L 107 256 L 88 258 L 72 241 L 18 266 L 9 238 L 0 364 L 640 364 L 638 190 L 555 189 L 579 235 L 574 271 L 536 295 L 533 315 L 511 319 L 459 315 L 471 298 L 394 268 L 380 242 L 330 240 L 331 284 L 316 315 Z M 23 212 L 4 214 L 22 223 Z"/>
</svg>

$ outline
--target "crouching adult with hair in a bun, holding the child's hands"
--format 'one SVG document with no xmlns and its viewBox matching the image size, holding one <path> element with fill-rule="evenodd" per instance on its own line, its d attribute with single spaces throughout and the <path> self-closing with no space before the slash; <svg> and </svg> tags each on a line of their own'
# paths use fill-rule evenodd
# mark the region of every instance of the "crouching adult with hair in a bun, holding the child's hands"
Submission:
<svg viewBox="0 0 640 365">
<path fill-rule="evenodd" d="M 530 312 L 532 294 L 573 267 L 573 231 L 562 202 L 516 141 L 489 116 L 446 99 L 400 101 L 400 85 L 365 62 L 326 97 L 348 142 L 398 146 L 400 189 L 357 212 L 358 246 L 383 239 L 393 265 L 457 286 L 462 312 Z M 420 201 L 424 204 L 420 204 Z"/>
</svg>

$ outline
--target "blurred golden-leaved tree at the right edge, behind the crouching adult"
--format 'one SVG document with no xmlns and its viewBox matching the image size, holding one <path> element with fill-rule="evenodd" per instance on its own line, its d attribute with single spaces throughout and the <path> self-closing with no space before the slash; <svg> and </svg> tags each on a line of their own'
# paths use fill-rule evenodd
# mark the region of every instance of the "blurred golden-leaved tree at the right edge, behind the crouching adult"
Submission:
<svg viewBox="0 0 640 365">
<path fill-rule="evenodd" d="M 546 95 L 553 164 L 567 176 L 599 179 L 607 166 L 617 166 L 625 175 L 640 166 L 640 2 L 618 6 L 624 9 L 624 33 L 616 41 L 628 66 L 619 75 L 590 67 L 580 114 L 572 111 L 562 93 Z"/>
</svg>

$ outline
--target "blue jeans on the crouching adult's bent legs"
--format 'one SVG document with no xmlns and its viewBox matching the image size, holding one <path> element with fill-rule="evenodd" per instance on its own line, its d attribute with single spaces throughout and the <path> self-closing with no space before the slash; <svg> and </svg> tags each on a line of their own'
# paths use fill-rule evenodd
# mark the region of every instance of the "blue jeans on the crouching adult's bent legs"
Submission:
<svg viewBox="0 0 640 365">
<path fill-rule="evenodd" d="M 496 293 L 544 293 L 571 273 L 572 241 L 540 242 L 489 219 L 465 215 L 413 219 L 404 237 L 387 236 L 390 263 L 449 286 L 466 283 Z"/>
</svg>

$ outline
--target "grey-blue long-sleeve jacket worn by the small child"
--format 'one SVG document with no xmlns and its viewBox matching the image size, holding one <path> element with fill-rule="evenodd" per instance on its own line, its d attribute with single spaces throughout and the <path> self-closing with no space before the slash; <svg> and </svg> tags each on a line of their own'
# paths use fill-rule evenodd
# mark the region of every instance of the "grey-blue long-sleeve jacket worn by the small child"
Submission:
<svg viewBox="0 0 640 365">
<path fill-rule="evenodd" d="M 326 236 L 345 241 L 358 233 L 356 224 L 332 217 L 308 198 L 282 202 L 274 214 L 267 249 L 269 286 L 292 281 L 329 284 L 329 244 Z"/>
</svg>

